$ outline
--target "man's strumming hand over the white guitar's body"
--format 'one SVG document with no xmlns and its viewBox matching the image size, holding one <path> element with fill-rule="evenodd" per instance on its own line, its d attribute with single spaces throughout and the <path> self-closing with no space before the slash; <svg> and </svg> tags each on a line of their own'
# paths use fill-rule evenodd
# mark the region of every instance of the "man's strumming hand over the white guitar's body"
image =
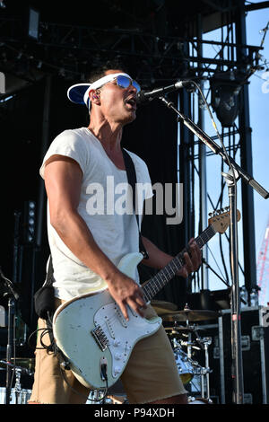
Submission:
<svg viewBox="0 0 269 422">
<path fill-rule="evenodd" d="M 143 310 L 147 305 L 143 299 L 143 289 L 132 278 L 119 271 L 113 280 L 107 281 L 107 284 L 110 295 L 116 301 L 126 321 L 128 321 L 127 305 L 140 316 L 144 316 Z"/>
</svg>

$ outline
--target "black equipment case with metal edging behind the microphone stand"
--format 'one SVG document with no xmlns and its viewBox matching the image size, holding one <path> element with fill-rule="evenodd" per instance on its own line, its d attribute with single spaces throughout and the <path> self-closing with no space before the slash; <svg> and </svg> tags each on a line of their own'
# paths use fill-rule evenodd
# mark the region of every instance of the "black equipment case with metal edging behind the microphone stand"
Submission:
<svg viewBox="0 0 269 422">
<path fill-rule="evenodd" d="M 210 391 L 221 404 L 232 403 L 230 309 L 222 310 L 218 323 L 199 325 L 200 336 L 210 336 Z M 241 347 L 244 403 L 269 404 L 269 307 L 241 309 Z M 198 352 L 201 365 L 203 352 Z"/>
</svg>

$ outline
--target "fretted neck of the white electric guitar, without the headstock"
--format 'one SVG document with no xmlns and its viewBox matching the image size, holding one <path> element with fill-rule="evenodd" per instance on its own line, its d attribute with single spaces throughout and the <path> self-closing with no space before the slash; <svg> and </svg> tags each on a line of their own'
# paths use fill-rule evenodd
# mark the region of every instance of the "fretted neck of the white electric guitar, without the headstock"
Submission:
<svg viewBox="0 0 269 422">
<path fill-rule="evenodd" d="M 203 248 L 205 243 L 210 241 L 210 239 L 213 238 L 213 235 L 216 232 L 213 229 L 212 225 L 209 225 L 204 232 L 199 234 L 195 238 L 195 242 L 199 246 L 200 249 Z M 144 298 L 146 302 L 149 302 L 152 300 L 152 298 L 157 295 L 161 291 L 161 289 L 166 286 L 169 281 L 175 277 L 175 275 L 178 273 L 178 271 L 184 266 L 185 259 L 184 259 L 184 253 L 187 251 L 187 249 L 184 249 L 183 251 L 179 252 L 178 255 L 170 260 L 170 262 L 161 269 L 155 276 L 150 278 L 146 284 L 143 286 L 143 293 Z"/>
</svg>

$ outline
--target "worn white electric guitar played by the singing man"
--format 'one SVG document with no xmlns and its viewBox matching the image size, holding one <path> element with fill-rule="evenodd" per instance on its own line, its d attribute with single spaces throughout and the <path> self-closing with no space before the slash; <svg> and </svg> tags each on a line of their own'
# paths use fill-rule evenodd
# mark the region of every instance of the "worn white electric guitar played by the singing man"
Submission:
<svg viewBox="0 0 269 422">
<path fill-rule="evenodd" d="M 238 220 L 240 218 L 238 211 Z M 230 212 L 213 215 L 209 226 L 195 242 L 202 249 L 215 233 L 224 233 L 230 224 Z M 186 251 L 186 250 L 185 250 Z M 147 303 L 184 266 L 184 251 L 172 259 L 158 274 L 142 286 Z M 141 253 L 129 253 L 120 260 L 118 268 L 134 278 Z M 146 320 L 128 307 L 126 321 L 117 303 L 102 281 L 98 291 L 76 296 L 60 305 L 53 319 L 53 333 L 57 347 L 65 355 L 70 369 L 86 387 L 108 388 L 123 373 L 134 345 L 151 336 L 161 326 L 161 318 Z M 103 371 L 102 371 L 103 370 Z"/>
</svg>

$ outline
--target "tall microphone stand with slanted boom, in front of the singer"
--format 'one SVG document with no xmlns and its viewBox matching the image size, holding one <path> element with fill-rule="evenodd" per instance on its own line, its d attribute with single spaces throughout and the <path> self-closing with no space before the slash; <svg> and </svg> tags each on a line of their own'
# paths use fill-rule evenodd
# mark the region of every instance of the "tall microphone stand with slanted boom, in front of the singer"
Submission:
<svg viewBox="0 0 269 422">
<path fill-rule="evenodd" d="M 237 222 L 237 204 L 236 204 L 236 182 L 239 177 L 265 199 L 269 198 L 267 192 L 262 186 L 253 179 L 251 175 L 244 171 L 239 164 L 237 164 L 230 155 L 224 154 L 224 151 L 217 145 L 213 139 L 204 131 L 195 125 L 195 123 L 184 116 L 174 106 L 172 101 L 166 100 L 164 97 L 159 97 L 161 101 L 178 115 L 178 121 L 182 121 L 205 145 L 207 145 L 214 154 L 221 155 L 224 163 L 228 164 L 230 171 L 222 173 L 226 179 L 229 189 L 230 198 L 230 260 L 231 260 L 231 295 L 230 295 L 230 310 L 231 310 L 231 378 L 233 381 L 232 401 L 236 404 L 243 404 L 244 402 L 244 382 L 243 382 L 243 362 L 241 349 L 241 325 L 240 325 L 240 301 L 239 301 L 239 249 L 238 249 L 238 222 Z M 228 157 L 228 158 L 227 158 Z"/>
</svg>

